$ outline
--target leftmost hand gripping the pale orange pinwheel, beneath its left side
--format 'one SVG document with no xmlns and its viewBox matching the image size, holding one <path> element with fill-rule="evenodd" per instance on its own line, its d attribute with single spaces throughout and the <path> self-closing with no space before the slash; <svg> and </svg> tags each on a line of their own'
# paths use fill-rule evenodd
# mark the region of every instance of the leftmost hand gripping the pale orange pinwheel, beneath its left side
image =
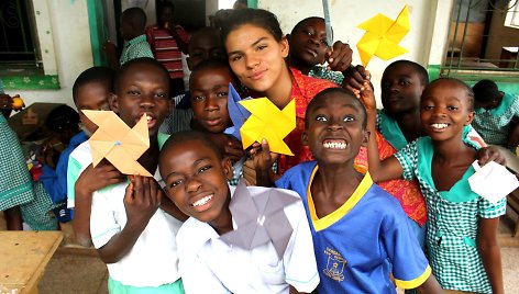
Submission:
<svg viewBox="0 0 519 294">
<path fill-rule="evenodd" d="M 97 167 L 89 165 L 81 174 L 79 174 L 76 181 L 76 189 L 92 194 L 107 185 L 122 182 L 123 179 L 124 174 L 112 166 L 112 163 L 108 160 L 102 160 Z"/>
</svg>

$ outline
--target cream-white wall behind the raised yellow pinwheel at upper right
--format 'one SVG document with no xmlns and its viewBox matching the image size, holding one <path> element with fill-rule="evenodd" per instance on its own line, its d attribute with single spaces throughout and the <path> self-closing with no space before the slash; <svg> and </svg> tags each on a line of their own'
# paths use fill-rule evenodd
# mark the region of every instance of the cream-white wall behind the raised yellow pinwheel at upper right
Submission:
<svg viewBox="0 0 519 294">
<path fill-rule="evenodd" d="M 372 72 L 372 81 L 375 84 L 376 93 L 380 92 L 382 74 L 391 61 L 410 59 L 426 67 L 431 61 L 440 64 L 441 56 L 443 56 L 443 45 L 446 42 L 448 27 L 439 27 L 439 31 L 443 31 L 434 32 L 435 42 L 433 49 L 430 49 L 431 38 L 433 38 L 434 23 L 449 23 L 453 0 L 329 1 L 334 41 L 340 39 L 350 44 L 353 49 L 354 65 L 361 64 L 355 44 L 365 33 L 364 30 L 357 29 L 356 25 L 375 16 L 377 13 L 383 13 L 394 20 L 406 4 L 409 5 L 411 30 L 400 42 L 400 46 L 409 52 L 387 61 L 374 57 L 367 65 L 367 69 Z M 258 0 L 257 7 L 275 13 L 279 19 L 284 33 L 290 33 L 294 25 L 305 18 L 323 16 L 322 2 L 317 0 Z M 441 33 L 444 33 L 444 35 Z M 438 56 L 440 57 L 438 58 Z"/>
</svg>

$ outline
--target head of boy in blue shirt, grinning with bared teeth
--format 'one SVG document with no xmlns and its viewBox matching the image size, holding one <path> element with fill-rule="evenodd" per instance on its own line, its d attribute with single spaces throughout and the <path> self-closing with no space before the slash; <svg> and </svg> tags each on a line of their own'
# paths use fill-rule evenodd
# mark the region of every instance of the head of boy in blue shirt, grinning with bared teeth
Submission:
<svg viewBox="0 0 519 294">
<path fill-rule="evenodd" d="M 319 165 L 343 165 L 366 146 L 366 112 L 361 102 L 341 88 L 320 92 L 307 109 L 302 140 Z"/>
</svg>

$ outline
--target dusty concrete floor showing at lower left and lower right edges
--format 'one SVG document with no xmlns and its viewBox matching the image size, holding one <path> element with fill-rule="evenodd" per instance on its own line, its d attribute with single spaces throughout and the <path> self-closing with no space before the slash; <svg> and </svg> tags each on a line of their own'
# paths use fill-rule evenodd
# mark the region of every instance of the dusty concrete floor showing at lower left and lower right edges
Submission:
<svg viewBox="0 0 519 294">
<path fill-rule="evenodd" d="M 511 218 L 516 217 L 504 216 L 499 227 L 505 293 L 519 293 L 519 236 L 511 237 Z M 3 215 L 0 215 L 0 229 L 4 228 Z M 75 246 L 68 229 L 65 227 L 65 241 L 47 264 L 38 285 L 40 293 L 108 293 L 107 267 L 95 249 Z"/>
</svg>

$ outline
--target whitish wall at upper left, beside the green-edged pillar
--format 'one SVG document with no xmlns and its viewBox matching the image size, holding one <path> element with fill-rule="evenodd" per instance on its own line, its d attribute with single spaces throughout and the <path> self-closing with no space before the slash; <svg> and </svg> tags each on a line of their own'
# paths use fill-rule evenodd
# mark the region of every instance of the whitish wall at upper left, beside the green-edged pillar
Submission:
<svg viewBox="0 0 519 294">
<path fill-rule="evenodd" d="M 57 74 L 62 89 L 12 90 L 9 94 L 19 93 L 24 99 L 25 105 L 34 102 L 56 102 L 74 106 L 71 97 L 74 81 L 81 71 L 93 65 L 87 1 L 32 1 L 45 74 Z"/>
</svg>

